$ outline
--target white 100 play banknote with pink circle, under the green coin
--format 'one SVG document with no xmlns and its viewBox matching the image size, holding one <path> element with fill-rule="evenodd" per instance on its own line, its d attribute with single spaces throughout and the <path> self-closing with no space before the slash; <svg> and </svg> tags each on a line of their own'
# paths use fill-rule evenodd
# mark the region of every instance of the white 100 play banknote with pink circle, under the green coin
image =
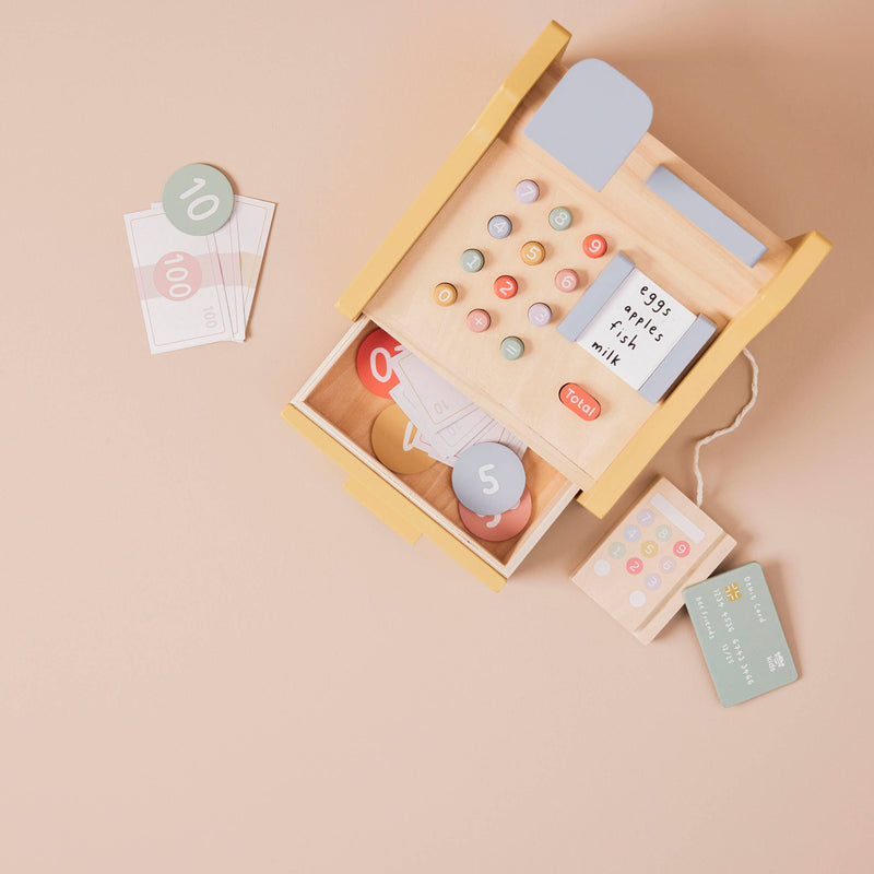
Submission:
<svg viewBox="0 0 874 874">
<path fill-rule="evenodd" d="M 231 340 L 222 270 L 211 235 L 175 228 L 163 210 L 125 216 L 152 354 Z"/>
</svg>

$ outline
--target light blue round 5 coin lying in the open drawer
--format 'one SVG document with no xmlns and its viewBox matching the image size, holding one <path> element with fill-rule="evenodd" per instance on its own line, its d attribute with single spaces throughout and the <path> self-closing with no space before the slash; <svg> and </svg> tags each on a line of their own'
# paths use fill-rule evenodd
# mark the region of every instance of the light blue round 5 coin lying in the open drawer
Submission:
<svg viewBox="0 0 874 874">
<path fill-rule="evenodd" d="M 525 469 L 503 444 L 475 444 L 452 468 L 452 491 L 469 510 L 495 516 L 519 503 L 525 491 Z"/>
</svg>

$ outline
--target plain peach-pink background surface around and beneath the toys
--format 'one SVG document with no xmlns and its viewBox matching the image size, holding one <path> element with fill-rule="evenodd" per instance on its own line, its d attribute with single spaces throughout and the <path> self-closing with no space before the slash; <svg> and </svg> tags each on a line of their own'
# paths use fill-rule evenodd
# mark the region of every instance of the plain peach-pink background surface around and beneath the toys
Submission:
<svg viewBox="0 0 874 874">
<path fill-rule="evenodd" d="M 869 871 L 866 8 L 7 9 L 0 870 Z M 694 167 L 836 246 L 753 344 L 758 408 L 704 452 L 705 506 L 763 564 L 802 674 L 730 710 L 685 614 L 643 648 L 568 581 L 604 531 L 581 508 L 495 595 L 279 417 L 551 16 Z M 192 161 L 276 218 L 249 341 L 152 358 L 121 216 Z M 739 361 L 635 492 L 689 492 L 747 382 Z"/>
</svg>

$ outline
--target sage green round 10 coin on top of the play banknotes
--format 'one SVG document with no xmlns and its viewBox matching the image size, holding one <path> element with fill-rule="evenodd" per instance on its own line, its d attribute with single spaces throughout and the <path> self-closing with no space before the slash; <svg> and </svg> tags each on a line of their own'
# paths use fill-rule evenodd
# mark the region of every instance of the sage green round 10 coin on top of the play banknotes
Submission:
<svg viewBox="0 0 874 874">
<path fill-rule="evenodd" d="M 202 237 L 222 227 L 234 211 L 234 189 L 209 164 L 188 164 L 167 179 L 164 212 L 184 234 Z"/>
</svg>

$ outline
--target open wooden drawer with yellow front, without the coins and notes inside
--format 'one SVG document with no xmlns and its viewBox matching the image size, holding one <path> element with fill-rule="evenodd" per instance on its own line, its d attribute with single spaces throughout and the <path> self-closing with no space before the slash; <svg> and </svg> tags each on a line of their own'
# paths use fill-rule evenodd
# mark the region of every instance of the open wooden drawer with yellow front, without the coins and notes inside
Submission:
<svg viewBox="0 0 874 874">
<path fill-rule="evenodd" d="M 370 428 L 392 401 L 368 391 L 355 369 L 358 344 L 376 327 L 367 317 L 359 318 L 283 416 L 346 470 L 346 491 L 401 536 L 413 543 L 427 535 L 497 591 L 579 489 L 529 448 L 522 463 L 531 492 L 531 520 L 512 540 L 487 543 L 461 523 L 451 468 L 435 463 L 409 475 L 386 468 L 374 456 Z"/>
</svg>

